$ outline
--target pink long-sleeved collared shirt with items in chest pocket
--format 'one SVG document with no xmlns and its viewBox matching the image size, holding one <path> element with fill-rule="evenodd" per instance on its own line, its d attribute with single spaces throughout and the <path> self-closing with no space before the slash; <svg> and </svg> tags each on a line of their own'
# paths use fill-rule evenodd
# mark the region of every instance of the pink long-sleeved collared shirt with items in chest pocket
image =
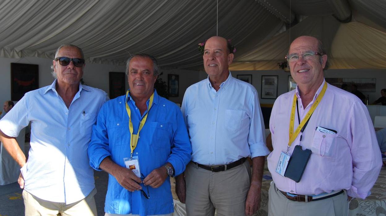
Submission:
<svg viewBox="0 0 386 216">
<path fill-rule="evenodd" d="M 349 196 L 364 199 L 378 178 L 382 165 L 374 127 L 366 106 L 359 98 L 330 84 L 327 84 L 325 95 L 302 135 L 301 147 L 310 149 L 312 154 L 300 182 L 296 183 L 275 172 L 279 156 L 282 151 L 286 151 L 288 145 L 294 94 L 298 97 L 301 122 L 324 83 L 325 81 L 307 107 L 302 106 L 298 88 L 276 99 L 269 121 L 274 149 L 267 158 L 269 171 L 281 191 L 311 195 L 346 189 Z M 298 125 L 295 108 L 294 128 Z M 337 133 L 318 132 L 315 130 L 318 126 Z M 300 135 L 301 133 L 289 148 L 290 154 L 299 145 Z"/>
</svg>

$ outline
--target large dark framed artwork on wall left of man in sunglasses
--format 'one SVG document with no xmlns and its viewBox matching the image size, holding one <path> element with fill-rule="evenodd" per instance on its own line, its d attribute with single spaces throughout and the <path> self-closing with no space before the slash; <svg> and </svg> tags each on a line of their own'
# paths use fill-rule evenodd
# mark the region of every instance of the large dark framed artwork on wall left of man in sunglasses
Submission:
<svg viewBox="0 0 386 216">
<path fill-rule="evenodd" d="M 39 65 L 11 63 L 11 100 L 19 101 L 25 93 L 39 88 Z"/>
</svg>

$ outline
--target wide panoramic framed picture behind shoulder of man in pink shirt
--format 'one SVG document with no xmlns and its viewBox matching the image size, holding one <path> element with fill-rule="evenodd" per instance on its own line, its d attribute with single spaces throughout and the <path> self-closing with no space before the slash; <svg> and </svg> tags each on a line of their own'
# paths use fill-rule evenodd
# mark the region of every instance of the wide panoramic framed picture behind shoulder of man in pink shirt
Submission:
<svg viewBox="0 0 386 216">
<path fill-rule="evenodd" d="M 345 84 L 345 90 L 351 92 L 352 85 L 357 86 L 358 91 L 362 92 L 375 92 L 376 78 L 325 78 L 326 82 L 342 88 L 342 85 Z"/>
</svg>

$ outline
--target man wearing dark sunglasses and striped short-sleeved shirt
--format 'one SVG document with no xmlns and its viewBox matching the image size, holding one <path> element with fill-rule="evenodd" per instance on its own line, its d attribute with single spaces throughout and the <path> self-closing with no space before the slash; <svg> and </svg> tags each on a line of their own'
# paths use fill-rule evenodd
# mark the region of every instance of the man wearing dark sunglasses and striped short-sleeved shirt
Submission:
<svg viewBox="0 0 386 216">
<path fill-rule="evenodd" d="M 62 45 L 52 61 L 54 82 L 25 93 L 0 120 L 0 138 L 21 169 L 26 216 L 96 216 L 93 169 L 87 147 L 107 94 L 82 85 L 83 51 Z M 15 137 L 31 124 L 28 161 Z"/>
</svg>

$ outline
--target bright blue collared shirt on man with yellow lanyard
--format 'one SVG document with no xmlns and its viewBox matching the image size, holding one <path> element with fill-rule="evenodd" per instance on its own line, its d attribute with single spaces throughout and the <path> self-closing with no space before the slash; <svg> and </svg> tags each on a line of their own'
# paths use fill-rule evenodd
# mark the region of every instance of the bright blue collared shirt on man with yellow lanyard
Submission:
<svg viewBox="0 0 386 216">
<path fill-rule="evenodd" d="M 98 114 L 88 147 L 90 165 L 96 170 L 100 170 L 99 165 L 105 157 L 110 157 L 122 167 L 125 167 L 124 158 L 130 158 L 129 116 L 125 102 L 125 95 L 112 99 L 102 106 Z M 136 134 L 139 122 L 147 111 L 141 115 L 131 97 L 128 98 L 127 104 L 131 110 L 131 121 Z M 146 177 L 152 170 L 170 162 L 174 167 L 174 174 L 179 175 L 189 163 L 190 155 L 188 132 L 179 107 L 154 91 L 153 104 L 133 152 L 133 157 L 138 157 L 141 173 Z M 146 199 L 141 191 L 127 191 L 109 174 L 105 212 L 141 216 L 173 212 L 169 177 L 158 188 L 143 184 L 141 186 L 145 192 L 149 189 L 150 199 Z"/>
</svg>

